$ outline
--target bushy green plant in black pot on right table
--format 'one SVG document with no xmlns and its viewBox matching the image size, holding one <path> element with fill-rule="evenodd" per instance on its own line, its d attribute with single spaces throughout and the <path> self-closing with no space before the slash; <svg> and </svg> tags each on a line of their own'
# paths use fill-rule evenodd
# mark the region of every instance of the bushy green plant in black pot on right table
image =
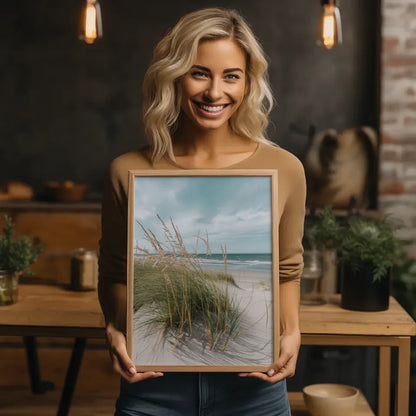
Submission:
<svg viewBox="0 0 416 416">
<path fill-rule="evenodd" d="M 337 254 L 341 306 L 345 309 L 388 309 L 390 274 L 403 257 L 403 242 L 387 217 L 353 215 L 336 218 L 331 207 L 317 214 L 315 241 Z"/>
</svg>

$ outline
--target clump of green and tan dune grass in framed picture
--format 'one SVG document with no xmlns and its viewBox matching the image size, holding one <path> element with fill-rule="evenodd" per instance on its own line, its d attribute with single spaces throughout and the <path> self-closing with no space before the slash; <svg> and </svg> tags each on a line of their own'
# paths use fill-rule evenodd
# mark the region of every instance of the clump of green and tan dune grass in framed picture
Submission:
<svg viewBox="0 0 416 416">
<path fill-rule="evenodd" d="M 224 272 L 203 269 L 197 253 L 186 250 L 172 219 L 170 227 L 158 219 L 165 243 L 139 223 L 152 252 L 135 247 L 144 256 L 134 263 L 134 311 L 147 306 L 145 324 L 162 329 L 164 336 L 173 336 L 177 342 L 202 325 L 201 341 L 210 349 L 225 350 L 229 340 L 238 336 L 241 320 L 238 302 L 229 293 L 229 285 L 236 284 L 225 271 L 226 257 Z M 208 236 L 196 238 L 209 254 Z"/>
</svg>

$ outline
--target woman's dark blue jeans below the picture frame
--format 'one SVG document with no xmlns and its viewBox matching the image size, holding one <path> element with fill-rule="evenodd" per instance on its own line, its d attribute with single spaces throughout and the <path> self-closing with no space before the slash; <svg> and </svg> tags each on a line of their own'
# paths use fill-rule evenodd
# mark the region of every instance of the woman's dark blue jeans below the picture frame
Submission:
<svg viewBox="0 0 416 416">
<path fill-rule="evenodd" d="M 121 380 L 115 416 L 290 416 L 286 380 L 269 384 L 236 373 L 165 373 Z"/>
</svg>

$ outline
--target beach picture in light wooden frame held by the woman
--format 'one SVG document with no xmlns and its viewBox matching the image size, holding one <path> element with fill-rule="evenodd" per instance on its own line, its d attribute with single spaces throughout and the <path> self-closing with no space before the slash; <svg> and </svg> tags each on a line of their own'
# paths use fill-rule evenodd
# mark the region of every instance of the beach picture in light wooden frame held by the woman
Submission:
<svg viewBox="0 0 416 416">
<path fill-rule="evenodd" d="M 138 371 L 266 371 L 279 355 L 276 170 L 129 172 Z"/>
</svg>

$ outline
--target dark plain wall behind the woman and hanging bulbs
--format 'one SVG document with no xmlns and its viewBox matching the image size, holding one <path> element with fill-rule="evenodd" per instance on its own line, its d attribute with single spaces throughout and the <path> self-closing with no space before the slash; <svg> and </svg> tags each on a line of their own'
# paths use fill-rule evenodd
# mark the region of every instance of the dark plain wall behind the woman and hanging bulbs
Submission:
<svg viewBox="0 0 416 416">
<path fill-rule="evenodd" d="M 102 0 L 104 39 L 77 38 L 81 0 L 0 2 L 0 180 L 100 191 L 108 162 L 144 143 L 140 88 L 152 48 L 184 13 L 235 7 L 270 57 L 270 137 L 302 156 L 308 126 L 378 125 L 377 0 L 341 3 L 344 44 L 316 46 L 319 0 Z"/>
</svg>

